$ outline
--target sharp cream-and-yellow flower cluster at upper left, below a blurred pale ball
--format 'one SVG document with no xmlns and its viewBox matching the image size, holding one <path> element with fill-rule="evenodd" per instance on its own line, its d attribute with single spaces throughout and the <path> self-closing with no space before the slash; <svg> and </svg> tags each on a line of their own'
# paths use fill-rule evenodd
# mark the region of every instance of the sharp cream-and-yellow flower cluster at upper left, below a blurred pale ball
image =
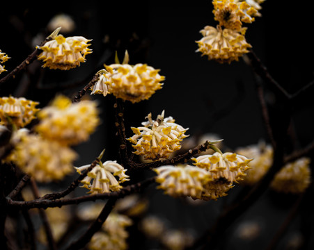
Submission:
<svg viewBox="0 0 314 250">
<path fill-rule="evenodd" d="M 86 55 L 92 53 L 88 48 L 90 41 L 82 36 L 64 38 L 63 35 L 56 35 L 54 40 L 38 47 L 42 50 L 38 60 L 45 63 L 42 67 L 49 69 L 72 69 L 84 63 Z"/>
</svg>

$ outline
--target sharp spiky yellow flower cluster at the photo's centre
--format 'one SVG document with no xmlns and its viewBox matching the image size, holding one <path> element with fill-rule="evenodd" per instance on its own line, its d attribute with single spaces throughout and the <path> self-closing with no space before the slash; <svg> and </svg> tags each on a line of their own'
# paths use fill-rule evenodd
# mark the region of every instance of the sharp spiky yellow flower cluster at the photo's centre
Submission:
<svg viewBox="0 0 314 250">
<path fill-rule="evenodd" d="M 132 127 L 135 135 L 127 139 L 135 144 L 132 145 L 136 149 L 133 153 L 144 156 L 146 160 L 159 160 L 168 158 L 173 151 L 181 148 L 180 142 L 187 137 L 185 132 L 189 128 L 175 124 L 172 117 L 164 118 L 164 111 L 156 121 L 152 120 L 151 113 L 146 118 L 148 122 L 143 122 L 143 126 Z"/>
</svg>

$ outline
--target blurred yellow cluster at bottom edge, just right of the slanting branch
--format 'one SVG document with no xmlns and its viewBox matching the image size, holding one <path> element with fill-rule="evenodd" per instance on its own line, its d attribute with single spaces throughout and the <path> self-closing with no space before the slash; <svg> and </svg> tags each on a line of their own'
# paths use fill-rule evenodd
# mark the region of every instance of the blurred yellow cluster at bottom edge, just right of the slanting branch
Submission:
<svg viewBox="0 0 314 250">
<path fill-rule="evenodd" d="M 125 215 L 110 213 L 102 229 L 93 235 L 88 249 L 125 250 L 127 249 L 127 226 L 133 224 L 132 219 Z"/>
</svg>

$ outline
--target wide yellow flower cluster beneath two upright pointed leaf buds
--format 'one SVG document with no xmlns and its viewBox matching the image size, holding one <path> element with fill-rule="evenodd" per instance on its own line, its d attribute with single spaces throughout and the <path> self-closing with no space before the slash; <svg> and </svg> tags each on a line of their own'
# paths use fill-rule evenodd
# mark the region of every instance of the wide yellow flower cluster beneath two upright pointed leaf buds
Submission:
<svg viewBox="0 0 314 250">
<path fill-rule="evenodd" d="M 137 103 L 149 99 L 156 90 L 162 88 L 164 76 L 159 75 L 159 69 L 146 64 L 113 64 L 105 66 L 109 90 L 112 94 L 125 101 Z"/>
</svg>

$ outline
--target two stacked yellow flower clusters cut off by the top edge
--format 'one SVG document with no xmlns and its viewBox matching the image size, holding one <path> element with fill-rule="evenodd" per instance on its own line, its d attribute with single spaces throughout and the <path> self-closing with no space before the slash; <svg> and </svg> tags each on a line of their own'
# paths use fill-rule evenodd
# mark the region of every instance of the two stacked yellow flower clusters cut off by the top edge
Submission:
<svg viewBox="0 0 314 250">
<path fill-rule="evenodd" d="M 260 5 L 254 0 L 213 0 L 212 4 L 214 19 L 219 24 L 216 28 L 205 26 L 200 31 L 203 38 L 196 41 L 196 52 L 201 52 L 202 56 L 208 56 L 208 60 L 217 60 L 219 63 L 237 61 L 251 47 L 245 40 L 246 27 L 242 27 L 242 23 L 253 22 L 254 17 L 260 15 L 255 7 Z"/>
</svg>

